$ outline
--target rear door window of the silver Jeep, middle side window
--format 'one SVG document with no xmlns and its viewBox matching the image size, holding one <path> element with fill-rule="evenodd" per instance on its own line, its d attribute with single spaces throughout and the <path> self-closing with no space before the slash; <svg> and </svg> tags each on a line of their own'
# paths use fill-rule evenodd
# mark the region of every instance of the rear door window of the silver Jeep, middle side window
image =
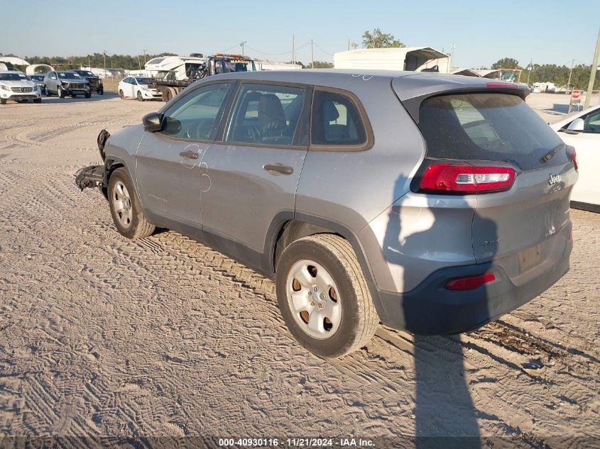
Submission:
<svg viewBox="0 0 600 449">
<path fill-rule="evenodd" d="M 293 145 L 307 92 L 305 87 L 242 84 L 225 140 Z"/>
</svg>

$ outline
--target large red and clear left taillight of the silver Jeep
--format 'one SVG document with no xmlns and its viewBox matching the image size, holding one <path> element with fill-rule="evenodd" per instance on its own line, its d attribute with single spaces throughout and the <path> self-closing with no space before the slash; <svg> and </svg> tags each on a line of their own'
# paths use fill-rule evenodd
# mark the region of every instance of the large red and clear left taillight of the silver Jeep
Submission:
<svg viewBox="0 0 600 449">
<path fill-rule="evenodd" d="M 515 170 L 511 167 L 432 164 L 423 173 L 420 189 L 427 192 L 491 193 L 513 187 Z"/>
</svg>

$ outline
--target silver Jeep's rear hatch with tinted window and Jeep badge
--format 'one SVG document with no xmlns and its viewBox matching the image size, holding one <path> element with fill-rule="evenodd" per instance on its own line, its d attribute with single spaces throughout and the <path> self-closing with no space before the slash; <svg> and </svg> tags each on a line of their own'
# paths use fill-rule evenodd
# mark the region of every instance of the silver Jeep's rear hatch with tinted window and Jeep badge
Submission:
<svg viewBox="0 0 600 449">
<path fill-rule="evenodd" d="M 471 225 L 477 263 L 495 260 L 522 284 L 564 257 L 574 155 L 520 96 L 493 89 L 432 96 L 420 105 L 418 126 L 427 143 L 424 167 L 441 161 L 514 169 L 506 188 L 469 192 L 477 198 Z"/>
</svg>

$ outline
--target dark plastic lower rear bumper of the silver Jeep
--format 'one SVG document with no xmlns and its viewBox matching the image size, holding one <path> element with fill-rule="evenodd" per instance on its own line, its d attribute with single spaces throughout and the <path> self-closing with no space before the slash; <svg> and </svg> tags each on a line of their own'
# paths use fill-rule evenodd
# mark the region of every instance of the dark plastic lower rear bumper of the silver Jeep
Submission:
<svg viewBox="0 0 600 449">
<path fill-rule="evenodd" d="M 447 335 L 479 328 L 552 287 L 569 271 L 572 248 L 572 240 L 568 240 L 559 262 L 520 286 L 511 282 L 500 265 L 486 262 L 442 268 L 404 294 L 379 291 L 381 321 L 421 335 Z M 496 280 L 477 289 L 455 292 L 444 288 L 449 279 L 490 271 Z"/>
</svg>

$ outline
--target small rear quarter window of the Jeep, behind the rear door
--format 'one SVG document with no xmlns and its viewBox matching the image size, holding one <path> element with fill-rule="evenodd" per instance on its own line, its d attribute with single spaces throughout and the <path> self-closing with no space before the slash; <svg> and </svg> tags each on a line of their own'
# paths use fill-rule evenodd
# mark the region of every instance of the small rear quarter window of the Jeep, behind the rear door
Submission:
<svg viewBox="0 0 600 449">
<path fill-rule="evenodd" d="M 315 92 L 312 101 L 312 145 L 365 145 L 366 131 L 359 109 L 349 96 Z"/>
</svg>

